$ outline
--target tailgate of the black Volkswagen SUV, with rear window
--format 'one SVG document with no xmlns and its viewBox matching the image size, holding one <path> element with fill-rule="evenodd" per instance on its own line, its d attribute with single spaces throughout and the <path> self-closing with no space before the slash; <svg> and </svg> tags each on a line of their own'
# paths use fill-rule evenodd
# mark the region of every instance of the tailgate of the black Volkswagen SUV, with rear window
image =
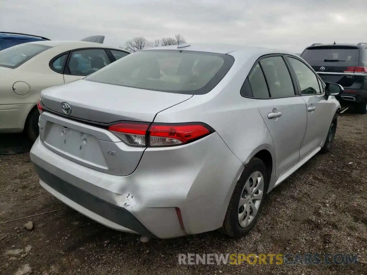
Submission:
<svg viewBox="0 0 367 275">
<path fill-rule="evenodd" d="M 301 57 L 319 74 L 324 82 L 345 88 L 361 89 L 364 76 L 355 73 L 360 66 L 360 50 L 352 45 L 317 45 L 308 47 Z"/>
</svg>

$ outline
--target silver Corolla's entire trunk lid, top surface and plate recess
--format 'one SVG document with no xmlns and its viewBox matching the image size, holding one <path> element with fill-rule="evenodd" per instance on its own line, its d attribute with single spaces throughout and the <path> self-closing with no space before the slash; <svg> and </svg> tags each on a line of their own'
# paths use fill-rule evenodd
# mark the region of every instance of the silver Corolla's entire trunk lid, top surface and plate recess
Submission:
<svg viewBox="0 0 367 275">
<path fill-rule="evenodd" d="M 86 80 L 48 88 L 41 93 L 45 111 L 39 119 L 40 140 L 70 161 L 126 176 L 134 172 L 145 147 L 126 145 L 103 124 L 121 120 L 152 122 L 160 111 L 190 97 Z M 62 111 L 64 102 L 71 107 L 70 115 Z"/>
</svg>

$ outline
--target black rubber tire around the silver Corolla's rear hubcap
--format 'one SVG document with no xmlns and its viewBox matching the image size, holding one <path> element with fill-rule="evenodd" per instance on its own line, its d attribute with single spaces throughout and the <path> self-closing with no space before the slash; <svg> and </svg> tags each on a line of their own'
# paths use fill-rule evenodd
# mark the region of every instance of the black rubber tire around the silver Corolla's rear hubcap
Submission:
<svg viewBox="0 0 367 275">
<path fill-rule="evenodd" d="M 241 192 L 246 184 L 246 181 L 252 175 L 252 173 L 259 171 L 262 173 L 264 178 L 264 191 L 262 200 L 260 202 L 257 214 L 255 215 L 254 219 L 250 222 L 249 225 L 246 227 L 241 227 L 239 223 L 239 202 L 241 198 Z M 248 164 L 245 165 L 245 168 L 240 176 L 240 179 L 237 181 L 235 190 L 233 191 L 232 197 L 230 199 L 228 209 L 226 212 L 226 216 L 224 218 L 223 226 L 219 228 L 219 231 L 223 234 L 226 234 L 232 238 L 241 238 L 245 236 L 251 229 L 254 227 L 259 214 L 261 212 L 262 206 L 264 205 L 264 201 L 266 198 L 266 192 L 268 190 L 268 171 L 264 162 L 261 161 L 259 158 L 252 158 Z"/>
</svg>

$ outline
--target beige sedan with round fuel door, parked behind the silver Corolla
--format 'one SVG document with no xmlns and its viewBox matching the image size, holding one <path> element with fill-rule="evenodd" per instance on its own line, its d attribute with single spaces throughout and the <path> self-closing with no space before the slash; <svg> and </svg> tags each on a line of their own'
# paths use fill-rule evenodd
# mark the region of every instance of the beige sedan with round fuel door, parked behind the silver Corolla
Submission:
<svg viewBox="0 0 367 275">
<path fill-rule="evenodd" d="M 43 89 L 81 79 L 128 54 L 94 42 L 53 40 L 0 51 L 0 133 L 24 131 L 36 140 Z"/>
</svg>

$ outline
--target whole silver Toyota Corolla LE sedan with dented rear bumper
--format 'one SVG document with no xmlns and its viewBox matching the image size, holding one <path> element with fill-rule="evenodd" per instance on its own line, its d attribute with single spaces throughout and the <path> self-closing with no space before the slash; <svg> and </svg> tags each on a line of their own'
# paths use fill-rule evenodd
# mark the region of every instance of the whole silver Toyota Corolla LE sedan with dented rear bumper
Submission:
<svg viewBox="0 0 367 275">
<path fill-rule="evenodd" d="M 180 41 L 44 89 L 30 157 L 41 186 L 110 228 L 239 238 L 331 149 L 341 91 L 290 52 Z"/>
</svg>

